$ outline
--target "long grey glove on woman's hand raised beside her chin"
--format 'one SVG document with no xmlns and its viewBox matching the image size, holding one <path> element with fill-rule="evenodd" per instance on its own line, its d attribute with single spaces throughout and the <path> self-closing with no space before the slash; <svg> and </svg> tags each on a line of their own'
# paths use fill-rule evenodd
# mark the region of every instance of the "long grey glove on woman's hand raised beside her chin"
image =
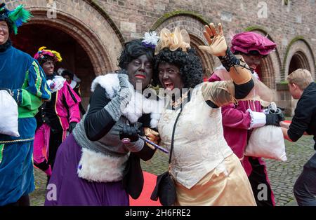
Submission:
<svg viewBox="0 0 316 220">
<path fill-rule="evenodd" d="M 120 89 L 117 91 L 117 96 L 105 106 L 105 109 L 114 121 L 119 120 L 121 111 L 129 104 L 133 94 L 133 85 L 129 82 L 129 76 L 127 74 L 117 74 L 117 77 L 119 78 Z"/>
</svg>

